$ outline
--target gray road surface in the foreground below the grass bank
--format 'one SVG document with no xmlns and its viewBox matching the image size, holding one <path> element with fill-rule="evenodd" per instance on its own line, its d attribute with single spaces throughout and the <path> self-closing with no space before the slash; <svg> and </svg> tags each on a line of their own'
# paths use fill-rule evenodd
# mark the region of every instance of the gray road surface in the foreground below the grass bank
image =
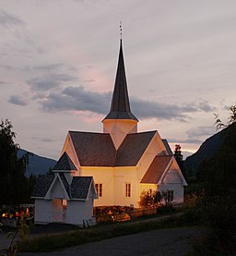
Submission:
<svg viewBox="0 0 236 256">
<path fill-rule="evenodd" d="M 204 229 L 196 226 L 152 230 L 134 235 L 110 238 L 54 252 L 18 252 L 18 256 L 169 256 L 186 255 L 195 238 Z"/>
</svg>

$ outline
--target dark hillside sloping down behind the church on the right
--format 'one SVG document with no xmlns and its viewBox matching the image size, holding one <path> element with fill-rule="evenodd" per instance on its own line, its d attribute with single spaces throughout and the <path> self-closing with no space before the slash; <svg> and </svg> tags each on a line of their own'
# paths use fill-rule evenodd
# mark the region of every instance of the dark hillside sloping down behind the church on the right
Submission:
<svg viewBox="0 0 236 256">
<path fill-rule="evenodd" d="M 195 177 L 198 166 L 218 151 L 226 133 L 229 132 L 229 129 L 234 128 L 235 126 L 236 124 L 232 124 L 229 128 L 225 128 L 211 136 L 203 142 L 197 152 L 186 158 L 183 165 L 187 177 Z"/>
</svg>

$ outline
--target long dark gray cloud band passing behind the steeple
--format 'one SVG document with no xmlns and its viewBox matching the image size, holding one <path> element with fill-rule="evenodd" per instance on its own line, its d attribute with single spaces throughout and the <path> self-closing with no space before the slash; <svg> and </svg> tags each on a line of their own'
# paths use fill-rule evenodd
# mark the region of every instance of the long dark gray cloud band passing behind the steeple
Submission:
<svg viewBox="0 0 236 256">
<path fill-rule="evenodd" d="M 62 92 L 52 92 L 46 99 L 41 101 L 45 111 L 90 111 L 100 115 L 109 112 L 112 101 L 112 92 L 86 91 L 83 86 L 66 87 Z M 186 122 L 190 119 L 190 114 L 199 111 L 213 111 L 214 107 L 207 102 L 199 104 L 159 104 L 131 98 L 132 112 L 141 119 L 157 118 L 172 119 Z M 204 107 L 203 107 L 204 106 Z"/>
</svg>

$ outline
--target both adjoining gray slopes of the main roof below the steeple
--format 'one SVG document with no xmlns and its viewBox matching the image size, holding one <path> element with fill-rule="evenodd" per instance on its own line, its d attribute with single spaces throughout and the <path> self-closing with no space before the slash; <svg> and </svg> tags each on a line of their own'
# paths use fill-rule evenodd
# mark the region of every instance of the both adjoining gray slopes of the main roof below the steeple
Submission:
<svg viewBox="0 0 236 256">
<path fill-rule="evenodd" d="M 82 166 L 136 166 L 156 131 L 127 134 L 116 151 L 108 133 L 69 131 Z"/>
</svg>

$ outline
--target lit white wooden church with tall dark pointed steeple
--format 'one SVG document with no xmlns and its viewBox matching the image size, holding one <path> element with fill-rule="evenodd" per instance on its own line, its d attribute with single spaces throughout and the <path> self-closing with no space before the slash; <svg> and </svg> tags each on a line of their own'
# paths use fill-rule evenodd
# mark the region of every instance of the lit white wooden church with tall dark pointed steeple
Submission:
<svg viewBox="0 0 236 256">
<path fill-rule="evenodd" d="M 186 185 L 167 140 L 157 130 L 137 132 L 138 120 L 131 112 L 124 68 L 123 42 L 110 112 L 102 120 L 103 133 L 69 131 L 62 155 L 77 170 L 66 176 L 93 177 L 98 193 L 95 206 L 139 206 L 147 189 L 168 190 L 172 201 L 183 202 Z"/>
</svg>

